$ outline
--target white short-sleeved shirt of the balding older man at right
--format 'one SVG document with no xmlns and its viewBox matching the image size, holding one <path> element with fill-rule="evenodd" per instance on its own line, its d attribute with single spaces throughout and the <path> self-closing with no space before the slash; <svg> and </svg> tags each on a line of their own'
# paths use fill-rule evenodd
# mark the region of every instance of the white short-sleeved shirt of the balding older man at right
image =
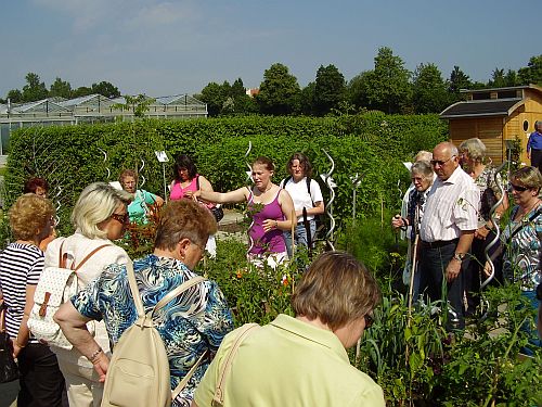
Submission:
<svg viewBox="0 0 542 407">
<path fill-rule="evenodd" d="M 476 230 L 479 202 L 478 187 L 461 167 L 446 181 L 437 178 L 427 196 L 420 238 L 449 241 L 460 238 L 463 230 Z"/>
</svg>

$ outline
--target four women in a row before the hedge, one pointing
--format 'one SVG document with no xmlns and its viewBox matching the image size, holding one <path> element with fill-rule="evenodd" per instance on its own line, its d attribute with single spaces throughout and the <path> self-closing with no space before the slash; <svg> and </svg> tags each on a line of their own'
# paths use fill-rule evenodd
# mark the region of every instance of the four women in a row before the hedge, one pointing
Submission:
<svg viewBox="0 0 542 407">
<path fill-rule="evenodd" d="M 286 165 L 289 176 L 280 185 L 272 181 L 275 166 L 268 157 L 258 157 L 251 169 L 251 188 L 216 192 L 209 180 L 197 173 L 192 158 L 181 154 L 173 165 L 169 200 L 192 199 L 211 213 L 221 204 L 246 202 L 247 213 L 251 217 L 248 257 L 256 264 L 267 263 L 275 267 L 293 256 L 293 244 L 299 247 L 312 246 L 317 231 L 315 216 L 324 213 L 322 191 L 311 178 L 311 164 L 302 153 L 292 155 Z M 164 204 L 160 196 L 137 189 L 138 178 L 133 170 L 124 170 L 119 182 L 133 196 L 128 206 L 132 222 L 146 222 L 150 208 Z M 212 236 L 206 249 L 211 256 L 215 254 Z"/>
</svg>

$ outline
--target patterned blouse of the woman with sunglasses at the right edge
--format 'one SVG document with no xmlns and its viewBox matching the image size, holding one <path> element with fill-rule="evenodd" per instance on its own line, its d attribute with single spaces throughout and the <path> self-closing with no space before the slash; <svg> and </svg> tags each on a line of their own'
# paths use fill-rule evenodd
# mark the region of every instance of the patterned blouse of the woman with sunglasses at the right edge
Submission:
<svg viewBox="0 0 542 407">
<path fill-rule="evenodd" d="M 519 206 L 512 211 L 511 219 Z M 517 232 L 514 234 L 514 231 Z M 511 234 L 512 237 L 511 241 Z M 533 291 L 541 281 L 540 256 L 542 247 L 542 204 L 525 215 L 520 220 L 511 220 L 503 231 L 503 272 L 509 281 L 521 281 L 521 290 Z"/>
</svg>

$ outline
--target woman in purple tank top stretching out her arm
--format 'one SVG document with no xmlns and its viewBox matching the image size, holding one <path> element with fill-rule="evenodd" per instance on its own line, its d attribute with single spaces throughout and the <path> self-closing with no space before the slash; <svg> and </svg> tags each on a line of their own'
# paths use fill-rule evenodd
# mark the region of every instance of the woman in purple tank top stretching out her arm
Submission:
<svg viewBox="0 0 542 407">
<path fill-rule="evenodd" d="M 192 193 L 194 199 L 216 203 L 248 202 L 248 212 L 253 222 L 248 228 L 250 259 L 266 259 L 274 267 L 286 258 L 286 245 L 283 231 L 292 229 L 295 219 L 294 203 L 286 190 L 271 181 L 274 164 L 267 157 L 259 157 L 253 163 L 251 189 L 243 187 L 230 192 L 199 190 Z"/>
</svg>

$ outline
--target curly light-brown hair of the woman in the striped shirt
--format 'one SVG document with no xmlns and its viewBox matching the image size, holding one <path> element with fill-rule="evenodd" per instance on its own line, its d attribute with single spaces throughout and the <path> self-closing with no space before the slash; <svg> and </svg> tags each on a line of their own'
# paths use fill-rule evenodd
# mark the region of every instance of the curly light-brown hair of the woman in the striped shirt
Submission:
<svg viewBox="0 0 542 407">
<path fill-rule="evenodd" d="M 15 201 L 9 214 L 13 237 L 16 240 L 33 240 L 51 221 L 54 207 L 48 199 L 25 193 Z"/>
</svg>

